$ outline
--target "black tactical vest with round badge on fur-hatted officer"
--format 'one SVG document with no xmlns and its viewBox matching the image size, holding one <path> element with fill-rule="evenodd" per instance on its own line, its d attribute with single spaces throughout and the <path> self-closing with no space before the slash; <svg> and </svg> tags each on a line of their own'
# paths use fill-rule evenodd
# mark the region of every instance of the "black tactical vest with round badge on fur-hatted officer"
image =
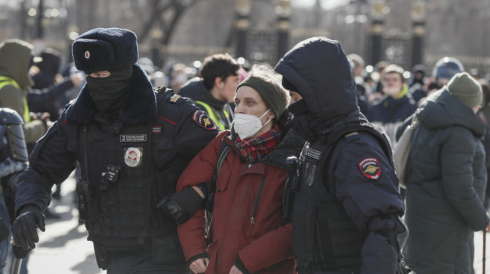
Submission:
<svg viewBox="0 0 490 274">
<path fill-rule="evenodd" d="M 167 120 L 155 117 L 146 124 L 121 124 L 117 134 L 102 131 L 95 122 L 63 125 L 65 132 L 76 132 L 66 135 L 83 174 L 77 185 L 78 197 L 84 199 L 81 208 L 79 203 L 80 217 L 85 219 L 88 240 L 101 247 L 134 250 L 156 244 L 173 246 L 178 249 L 176 254 L 182 252 L 176 222 L 155 208 L 160 199 L 175 191 L 188 164 L 176 153 L 165 168 L 158 168 L 153 159 L 155 150 L 162 154 L 172 150 L 177 130 L 172 121 L 195 110 L 187 106 L 179 111 L 165 110 L 167 103 L 179 104 L 169 101 L 171 93 L 157 94 L 158 116 Z"/>
</svg>

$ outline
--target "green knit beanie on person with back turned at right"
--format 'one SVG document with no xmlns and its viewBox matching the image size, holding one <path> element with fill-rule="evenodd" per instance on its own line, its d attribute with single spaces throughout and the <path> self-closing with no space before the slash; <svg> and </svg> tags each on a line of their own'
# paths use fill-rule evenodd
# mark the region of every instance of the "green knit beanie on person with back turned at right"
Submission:
<svg viewBox="0 0 490 274">
<path fill-rule="evenodd" d="M 454 97 L 473 108 L 482 103 L 482 87 L 466 72 L 457 73 L 447 83 Z"/>
</svg>

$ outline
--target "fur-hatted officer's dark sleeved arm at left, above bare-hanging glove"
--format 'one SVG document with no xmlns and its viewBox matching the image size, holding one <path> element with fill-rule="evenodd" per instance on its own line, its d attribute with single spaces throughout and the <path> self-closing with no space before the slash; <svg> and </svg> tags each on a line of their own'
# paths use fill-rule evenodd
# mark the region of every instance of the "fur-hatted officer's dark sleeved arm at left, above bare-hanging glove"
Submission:
<svg viewBox="0 0 490 274">
<path fill-rule="evenodd" d="M 20 175 L 17 185 L 15 212 L 28 204 L 46 208 L 52 185 L 62 183 L 75 168 L 76 156 L 66 150 L 67 141 L 60 128 L 59 122 L 53 124 L 31 153 L 29 168 Z"/>
</svg>

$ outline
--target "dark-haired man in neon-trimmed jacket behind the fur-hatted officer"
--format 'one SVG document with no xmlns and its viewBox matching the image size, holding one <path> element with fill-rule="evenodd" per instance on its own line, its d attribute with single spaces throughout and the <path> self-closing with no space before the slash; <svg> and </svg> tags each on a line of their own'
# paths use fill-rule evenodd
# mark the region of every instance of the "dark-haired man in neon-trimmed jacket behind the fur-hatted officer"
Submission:
<svg viewBox="0 0 490 274">
<path fill-rule="evenodd" d="M 207 112 L 221 130 L 230 129 L 233 110 L 230 102 L 240 82 L 240 65 L 227 54 L 216 54 L 204 59 L 200 77 L 186 82 L 179 95 L 193 99 L 198 108 Z"/>
</svg>

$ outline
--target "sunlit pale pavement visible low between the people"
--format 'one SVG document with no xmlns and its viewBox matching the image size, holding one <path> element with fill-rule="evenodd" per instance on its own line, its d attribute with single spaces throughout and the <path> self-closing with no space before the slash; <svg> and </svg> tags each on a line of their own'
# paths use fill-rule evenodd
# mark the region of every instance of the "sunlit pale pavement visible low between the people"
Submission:
<svg viewBox="0 0 490 274">
<path fill-rule="evenodd" d="M 73 177 L 62 185 L 62 201 L 53 201 L 52 208 L 62 218 L 48 219 L 45 233 L 28 264 L 29 273 L 102 274 L 97 268 L 91 242 L 88 242 L 85 226 L 78 226 L 78 212 L 73 205 Z M 487 234 L 490 243 L 490 234 Z M 475 274 L 482 274 L 482 232 L 475 233 Z M 486 273 L 490 274 L 490 244 L 486 245 Z"/>
</svg>

